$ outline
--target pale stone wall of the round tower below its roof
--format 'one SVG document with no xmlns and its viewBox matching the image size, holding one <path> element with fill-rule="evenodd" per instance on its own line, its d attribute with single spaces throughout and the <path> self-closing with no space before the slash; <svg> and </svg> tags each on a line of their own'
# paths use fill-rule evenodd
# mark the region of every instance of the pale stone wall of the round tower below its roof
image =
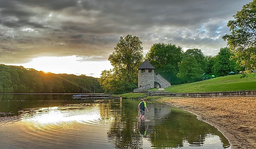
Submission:
<svg viewBox="0 0 256 149">
<path fill-rule="evenodd" d="M 148 72 L 148 69 L 145 69 L 144 73 L 141 73 L 141 70 L 139 70 L 138 73 L 138 87 L 150 85 L 150 88 L 154 88 L 154 81 L 155 81 L 155 72 L 152 70 L 151 73 Z M 149 89 L 150 89 L 149 88 Z"/>
</svg>

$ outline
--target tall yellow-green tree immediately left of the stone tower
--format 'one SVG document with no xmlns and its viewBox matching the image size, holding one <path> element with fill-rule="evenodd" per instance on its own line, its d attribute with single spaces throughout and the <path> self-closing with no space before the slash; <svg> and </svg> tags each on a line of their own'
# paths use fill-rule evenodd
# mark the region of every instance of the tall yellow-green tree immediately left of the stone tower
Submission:
<svg viewBox="0 0 256 149">
<path fill-rule="evenodd" d="M 121 36 L 114 50 L 108 60 L 118 74 L 118 79 L 128 83 L 137 82 L 138 67 L 143 61 L 143 47 L 139 37 L 129 34 L 125 38 Z"/>
</svg>

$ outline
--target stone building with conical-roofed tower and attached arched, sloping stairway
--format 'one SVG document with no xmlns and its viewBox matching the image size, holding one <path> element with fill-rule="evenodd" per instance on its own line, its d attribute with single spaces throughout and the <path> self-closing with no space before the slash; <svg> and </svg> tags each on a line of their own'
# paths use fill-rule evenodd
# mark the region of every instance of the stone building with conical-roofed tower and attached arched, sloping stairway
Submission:
<svg viewBox="0 0 256 149">
<path fill-rule="evenodd" d="M 151 88 L 165 88 L 170 87 L 168 82 L 160 74 L 155 74 L 155 67 L 145 60 L 138 68 L 138 88 L 134 92 L 143 91 Z"/>
</svg>

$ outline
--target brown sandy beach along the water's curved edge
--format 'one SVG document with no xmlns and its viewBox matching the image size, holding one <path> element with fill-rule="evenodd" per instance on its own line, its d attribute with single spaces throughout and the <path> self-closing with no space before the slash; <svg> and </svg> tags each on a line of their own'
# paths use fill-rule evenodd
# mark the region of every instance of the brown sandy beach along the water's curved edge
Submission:
<svg viewBox="0 0 256 149">
<path fill-rule="evenodd" d="M 256 97 L 175 98 L 160 101 L 198 115 L 218 128 L 232 149 L 256 149 Z"/>
</svg>

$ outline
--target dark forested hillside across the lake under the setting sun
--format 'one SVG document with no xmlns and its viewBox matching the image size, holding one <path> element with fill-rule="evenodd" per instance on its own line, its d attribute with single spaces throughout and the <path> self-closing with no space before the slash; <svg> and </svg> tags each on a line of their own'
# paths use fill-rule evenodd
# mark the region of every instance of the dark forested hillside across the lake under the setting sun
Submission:
<svg viewBox="0 0 256 149">
<path fill-rule="evenodd" d="M 88 93 L 103 92 L 97 78 L 85 75 L 54 74 L 23 66 L 0 64 L 0 93 Z"/>
</svg>

